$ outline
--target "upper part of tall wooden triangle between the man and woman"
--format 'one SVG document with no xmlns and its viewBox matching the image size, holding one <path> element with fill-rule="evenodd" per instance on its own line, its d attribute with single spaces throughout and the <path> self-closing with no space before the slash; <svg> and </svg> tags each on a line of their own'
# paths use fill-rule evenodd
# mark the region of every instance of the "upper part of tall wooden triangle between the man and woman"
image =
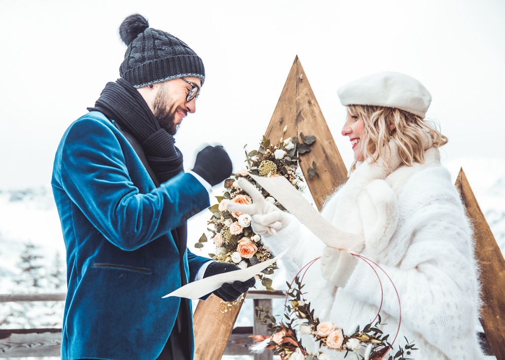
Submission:
<svg viewBox="0 0 505 360">
<path fill-rule="evenodd" d="M 298 140 L 300 132 L 316 136 L 311 151 L 300 154 L 300 167 L 314 202 L 321 210 L 328 195 L 347 180 L 347 169 L 298 56 L 294 58 L 265 136 L 275 143 L 285 126 L 288 128 L 286 136 L 298 136 Z M 312 167 L 313 161 L 320 176 L 310 179 L 307 169 Z"/>
</svg>

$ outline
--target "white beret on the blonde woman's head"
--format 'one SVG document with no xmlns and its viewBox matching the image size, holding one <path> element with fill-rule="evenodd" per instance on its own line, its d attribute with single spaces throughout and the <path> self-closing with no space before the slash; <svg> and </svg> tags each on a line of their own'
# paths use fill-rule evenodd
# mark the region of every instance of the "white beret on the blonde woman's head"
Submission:
<svg viewBox="0 0 505 360">
<path fill-rule="evenodd" d="M 431 95 L 418 80 L 396 72 L 381 72 L 351 81 L 337 91 L 342 105 L 395 107 L 424 119 Z"/>
</svg>

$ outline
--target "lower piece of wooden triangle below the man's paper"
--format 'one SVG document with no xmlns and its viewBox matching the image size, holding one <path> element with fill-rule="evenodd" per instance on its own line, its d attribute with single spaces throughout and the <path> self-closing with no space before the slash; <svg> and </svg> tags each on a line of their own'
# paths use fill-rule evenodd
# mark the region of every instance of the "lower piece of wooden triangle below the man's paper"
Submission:
<svg viewBox="0 0 505 360">
<path fill-rule="evenodd" d="M 221 299 L 214 294 L 198 302 L 193 314 L 194 360 L 219 360 L 223 356 L 243 303 L 223 314 Z"/>
</svg>

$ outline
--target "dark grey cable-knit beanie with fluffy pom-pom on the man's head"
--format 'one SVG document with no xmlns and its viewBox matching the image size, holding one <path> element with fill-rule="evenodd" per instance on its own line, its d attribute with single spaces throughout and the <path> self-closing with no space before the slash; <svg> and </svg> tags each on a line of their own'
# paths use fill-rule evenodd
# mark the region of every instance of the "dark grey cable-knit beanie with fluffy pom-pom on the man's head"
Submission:
<svg viewBox="0 0 505 360">
<path fill-rule="evenodd" d="M 119 35 L 128 46 L 119 75 L 135 88 L 181 77 L 204 83 L 200 57 L 175 36 L 150 28 L 143 16 L 128 16 L 119 27 Z"/>
</svg>

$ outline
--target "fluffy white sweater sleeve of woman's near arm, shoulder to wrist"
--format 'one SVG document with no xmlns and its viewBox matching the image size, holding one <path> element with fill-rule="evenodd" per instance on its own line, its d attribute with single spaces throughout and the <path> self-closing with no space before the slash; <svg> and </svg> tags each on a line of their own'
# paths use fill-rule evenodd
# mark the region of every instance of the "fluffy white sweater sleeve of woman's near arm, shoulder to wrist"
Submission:
<svg viewBox="0 0 505 360">
<path fill-rule="evenodd" d="M 401 322 L 449 358 L 468 358 L 459 347 L 466 342 L 471 348 L 476 342 L 478 271 L 471 227 L 449 173 L 435 166 L 413 175 L 398 197 L 398 207 L 393 238 L 373 260 L 396 286 Z M 398 317 L 396 292 L 385 276 L 381 278 L 382 309 Z M 380 305 L 379 281 L 365 262 L 341 290 Z"/>
</svg>

